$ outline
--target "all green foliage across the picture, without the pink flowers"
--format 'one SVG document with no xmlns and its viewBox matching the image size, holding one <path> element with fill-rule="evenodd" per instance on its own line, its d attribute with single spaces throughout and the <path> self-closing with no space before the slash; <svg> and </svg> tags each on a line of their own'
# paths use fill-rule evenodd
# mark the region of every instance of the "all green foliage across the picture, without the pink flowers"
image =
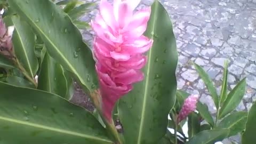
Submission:
<svg viewBox="0 0 256 144">
<path fill-rule="evenodd" d="M 194 64 L 217 107 L 216 118 L 198 101 L 197 111 L 177 123 L 190 94 L 177 90 L 173 27 L 157 0 L 151 5 L 144 34 L 154 40 L 142 70 L 145 79 L 116 103 L 113 122 L 106 121 L 93 54 L 79 31 L 90 28 L 81 17 L 95 5 L 78 0 L 0 0 L 7 31 L 14 27 L 9 53 L 13 57 L 2 52 L 6 47 L 0 54 L 1 142 L 211 144 L 245 131 L 243 144 L 253 143 L 256 104 L 248 115 L 234 111 L 244 96 L 246 81 L 242 79 L 228 92 L 227 62 L 220 95 L 206 71 Z M 97 108 L 93 114 L 69 101 L 73 79 L 90 95 Z M 123 133 L 116 130 L 116 119 Z M 186 122 L 188 135 L 181 128 Z"/>
</svg>

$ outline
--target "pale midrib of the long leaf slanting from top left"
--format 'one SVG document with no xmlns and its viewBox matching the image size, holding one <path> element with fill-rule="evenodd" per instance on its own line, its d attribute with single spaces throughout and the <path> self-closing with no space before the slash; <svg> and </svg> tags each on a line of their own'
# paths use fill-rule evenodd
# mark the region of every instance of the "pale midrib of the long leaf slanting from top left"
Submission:
<svg viewBox="0 0 256 144">
<path fill-rule="evenodd" d="M 17 4 L 15 4 L 17 7 L 19 7 L 19 9 L 21 10 L 21 7 Z M 33 25 L 41 32 L 41 34 L 47 39 L 47 41 L 54 47 L 54 49 L 60 54 L 61 58 L 67 63 L 68 67 L 71 69 L 71 71 L 73 71 L 73 73 L 78 77 L 78 79 L 81 81 L 82 84 L 84 84 L 86 87 L 88 87 L 85 82 L 83 81 L 83 79 L 81 78 L 80 75 L 78 75 L 77 71 L 75 70 L 75 68 L 68 62 L 68 60 L 62 55 L 62 53 L 58 50 L 57 46 L 55 46 L 52 41 L 43 33 L 43 31 L 37 27 L 36 23 L 30 18 L 28 17 L 28 15 L 21 11 L 24 15 L 26 15 L 26 17 L 31 21 L 31 23 L 33 23 Z"/>
</svg>

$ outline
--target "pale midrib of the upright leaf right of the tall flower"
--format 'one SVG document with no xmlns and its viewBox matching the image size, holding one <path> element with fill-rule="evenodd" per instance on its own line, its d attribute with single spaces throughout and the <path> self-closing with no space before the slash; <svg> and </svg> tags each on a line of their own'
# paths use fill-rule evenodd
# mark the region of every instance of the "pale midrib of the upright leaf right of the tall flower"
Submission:
<svg viewBox="0 0 256 144">
<path fill-rule="evenodd" d="M 155 3 L 155 9 L 157 8 L 158 3 Z M 153 18 L 155 18 L 157 15 L 157 10 L 155 10 L 154 12 L 154 16 Z M 152 30 L 150 31 L 154 31 L 155 29 L 155 24 L 156 21 L 153 22 L 153 26 L 152 26 Z M 153 35 L 151 35 L 150 39 L 153 39 Z M 151 53 L 152 53 L 152 49 L 149 50 L 149 54 L 148 54 L 148 67 L 147 67 L 147 77 L 145 79 L 145 91 L 144 91 L 144 95 L 143 95 L 143 103 L 142 103 L 142 111 L 141 111 L 141 120 L 140 120 L 140 128 L 139 128 L 139 134 L 138 134 L 138 141 L 137 144 L 140 144 L 141 141 L 141 135 L 142 135 L 142 129 L 143 129 L 143 123 L 144 123 L 144 119 L 145 119 L 145 109 L 146 109 L 146 101 L 147 101 L 147 95 L 148 95 L 148 83 L 149 83 L 149 73 L 150 73 L 150 63 L 151 63 Z"/>
</svg>

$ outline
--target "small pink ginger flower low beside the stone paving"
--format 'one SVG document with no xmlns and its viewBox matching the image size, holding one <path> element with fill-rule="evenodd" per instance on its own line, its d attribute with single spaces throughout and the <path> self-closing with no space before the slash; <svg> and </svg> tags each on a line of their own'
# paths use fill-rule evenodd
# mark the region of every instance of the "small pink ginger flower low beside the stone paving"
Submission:
<svg viewBox="0 0 256 144">
<path fill-rule="evenodd" d="M 183 103 L 183 106 L 177 118 L 177 123 L 180 123 L 196 109 L 196 103 L 198 101 L 198 98 L 199 96 L 197 94 L 189 95 L 189 97 Z"/>
</svg>

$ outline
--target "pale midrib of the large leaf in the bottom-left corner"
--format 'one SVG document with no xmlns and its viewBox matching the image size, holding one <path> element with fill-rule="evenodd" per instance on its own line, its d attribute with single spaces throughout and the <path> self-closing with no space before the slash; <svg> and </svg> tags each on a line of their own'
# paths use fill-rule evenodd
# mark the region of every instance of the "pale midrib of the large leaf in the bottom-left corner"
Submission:
<svg viewBox="0 0 256 144">
<path fill-rule="evenodd" d="M 19 121 L 18 119 L 12 119 L 12 118 L 2 117 L 2 116 L 0 116 L 0 119 L 3 120 L 3 121 L 7 121 L 7 122 L 12 122 L 12 123 L 17 123 L 17 124 L 21 124 L 21 125 L 37 127 L 37 128 L 41 128 L 41 129 L 45 129 L 45 130 L 49 130 L 49 131 L 55 131 L 55 132 L 59 132 L 59 133 L 63 133 L 63 134 L 70 134 L 70 135 L 75 135 L 77 137 L 82 137 L 82 138 L 93 139 L 93 140 L 98 140 L 98 141 L 111 143 L 111 141 L 103 139 L 103 138 L 94 137 L 92 135 L 87 135 L 87 134 L 78 133 L 78 132 L 74 132 L 74 131 L 61 130 L 61 129 L 57 129 L 57 128 L 54 128 L 54 127 L 39 125 L 39 124 L 35 124 L 35 123 L 29 123 L 29 122 L 25 122 L 25 121 Z"/>
</svg>

